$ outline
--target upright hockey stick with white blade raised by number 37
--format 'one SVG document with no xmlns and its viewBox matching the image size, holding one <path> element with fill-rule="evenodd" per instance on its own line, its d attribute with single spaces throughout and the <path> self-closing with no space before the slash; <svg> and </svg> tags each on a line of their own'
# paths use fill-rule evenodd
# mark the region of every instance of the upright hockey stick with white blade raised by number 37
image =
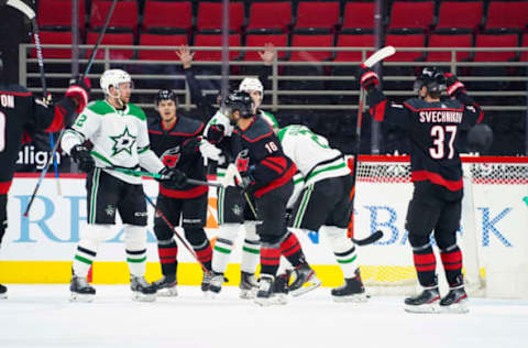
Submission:
<svg viewBox="0 0 528 348">
<path fill-rule="evenodd" d="M 376 51 L 373 55 L 371 55 L 365 62 L 363 62 L 363 65 L 365 65 L 366 67 L 373 67 L 376 63 L 392 56 L 395 53 L 396 53 L 396 50 L 393 46 L 385 46 L 385 47 Z M 355 149 L 354 149 L 354 161 L 353 161 L 353 167 L 352 167 L 352 191 L 350 193 L 350 200 L 352 202 L 352 214 L 350 216 L 350 224 L 349 224 L 349 228 L 348 228 L 349 238 L 352 238 L 352 240 L 354 242 L 356 242 L 358 244 L 361 244 L 361 243 L 359 243 L 361 241 L 353 239 L 353 236 L 354 236 L 354 208 L 353 207 L 354 207 L 354 200 L 355 200 L 354 199 L 355 198 L 355 181 L 356 181 L 356 176 L 358 176 L 358 157 L 360 156 L 361 124 L 362 124 L 362 120 L 363 120 L 364 105 L 365 105 L 365 93 L 364 93 L 364 89 L 360 86 L 360 105 L 359 105 L 359 108 L 358 108 L 358 122 L 356 122 L 356 126 L 355 126 Z M 382 231 L 376 231 L 371 237 L 377 235 L 378 232 L 381 232 L 380 238 L 382 238 L 383 237 Z M 377 238 L 376 240 L 378 240 L 380 238 Z M 373 242 L 373 241 L 371 241 L 371 242 Z"/>
</svg>

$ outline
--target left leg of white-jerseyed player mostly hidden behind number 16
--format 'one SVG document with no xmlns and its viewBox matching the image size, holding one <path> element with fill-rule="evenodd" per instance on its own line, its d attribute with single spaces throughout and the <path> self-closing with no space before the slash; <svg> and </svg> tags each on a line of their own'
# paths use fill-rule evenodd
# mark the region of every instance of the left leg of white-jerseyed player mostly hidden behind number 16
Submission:
<svg viewBox="0 0 528 348">
<path fill-rule="evenodd" d="M 218 191 L 218 233 L 212 250 L 212 271 L 210 291 L 219 293 L 223 283 L 223 273 L 233 251 L 234 242 L 244 220 L 244 200 L 239 187 L 228 186 Z"/>
</svg>

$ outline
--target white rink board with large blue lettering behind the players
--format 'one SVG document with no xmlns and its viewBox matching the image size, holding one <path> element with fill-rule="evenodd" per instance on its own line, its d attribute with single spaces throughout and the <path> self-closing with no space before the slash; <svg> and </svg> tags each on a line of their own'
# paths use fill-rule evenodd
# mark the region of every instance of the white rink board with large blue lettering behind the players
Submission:
<svg viewBox="0 0 528 348">
<path fill-rule="evenodd" d="M 37 178 L 16 177 L 9 194 L 9 228 L 1 260 L 69 261 L 79 235 L 86 226 L 86 191 L 84 178 L 61 178 L 63 196 L 57 196 L 54 178 L 45 178 L 30 211 L 22 216 Z M 145 180 L 145 192 L 156 197 L 157 183 Z M 473 185 L 475 197 L 475 225 L 481 267 L 521 265 L 528 255 L 528 206 L 522 198 L 528 195 L 526 185 Z M 358 183 L 356 236 L 364 238 L 377 229 L 384 238 L 373 246 L 360 248 L 360 262 L 364 265 L 410 265 L 411 253 L 404 229 L 407 204 L 413 188 L 410 183 L 372 184 Z M 216 197 L 215 188 L 210 196 Z M 209 207 L 216 218 L 216 207 Z M 148 206 L 148 260 L 157 261 L 155 237 L 152 230 L 153 209 Z M 210 238 L 216 229 L 208 229 Z M 183 230 L 179 230 L 183 235 Z M 464 232 L 462 226 L 461 233 Z M 239 233 L 242 239 L 243 233 Z M 323 235 L 323 233 L 321 233 Z M 120 225 L 116 233 L 103 244 L 99 261 L 123 261 Z M 329 248 L 319 248 L 307 236 L 299 236 L 312 264 L 334 264 Z M 324 244 L 320 236 L 319 244 Z M 239 262 L 240 251 L 231 261 Z M 180 252 L 183 262 L 194 260 Z M 525 268 L 525 272 L 528 268 Z M 527 275 L 528 276 L 528 275 Z"/>
</svg>

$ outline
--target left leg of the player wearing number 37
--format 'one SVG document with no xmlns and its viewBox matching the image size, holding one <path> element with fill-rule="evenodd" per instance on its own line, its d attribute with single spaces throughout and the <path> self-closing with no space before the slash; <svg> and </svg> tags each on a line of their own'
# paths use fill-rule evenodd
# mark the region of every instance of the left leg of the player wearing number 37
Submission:
<svg viewBox="0 0 528 348">
<path fill-rule="evenodd" d="M 405 298 L 407 312 L 433 313 L 439 311 L 437 260 L 430 243 L 430 235 L 437 225 L 441 208 L 442 202 L 430 195 L 427 184 L 415 184 L 405 227 L 409 232 L 409 243 L 413 247 L 416 273 L 422 292 Z"/>
</svg>

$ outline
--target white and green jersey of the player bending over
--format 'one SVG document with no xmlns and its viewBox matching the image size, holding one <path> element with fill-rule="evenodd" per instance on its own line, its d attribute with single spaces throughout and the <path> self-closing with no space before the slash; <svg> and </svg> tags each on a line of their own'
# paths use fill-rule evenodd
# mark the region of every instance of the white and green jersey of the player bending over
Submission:
<svg viewBox="0 0 528 348">
<path fill-rule="evenodd" d="M 294 161 L 305 177 L 305 186 L 351 173 L 343 154 L 330 148 L 324 137 L 314 133 L 306 126 L 282 128 L 278 139 L 284 153 Z"/>
</svg>

